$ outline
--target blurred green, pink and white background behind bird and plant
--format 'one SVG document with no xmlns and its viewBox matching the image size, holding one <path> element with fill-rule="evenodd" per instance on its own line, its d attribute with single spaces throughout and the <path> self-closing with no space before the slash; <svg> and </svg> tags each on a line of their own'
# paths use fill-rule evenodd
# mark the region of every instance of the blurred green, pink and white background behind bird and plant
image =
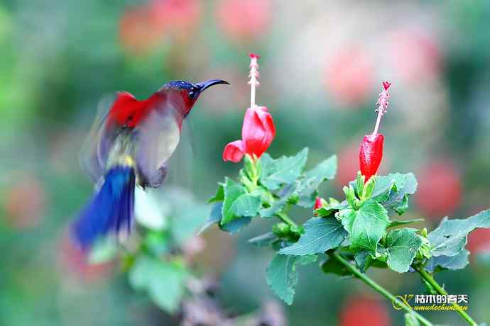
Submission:
<svg viewBox="0 0 490 326">
<path fill-rule="evenodd" d="M 325 196 L 354 179 L 389 80 L 381 174 L 418 176 L 407 215 L 432 228 L 489 208 L 489 16 L 490 1 L 1 0 L 0 325 L 178 325 L 131 291 L 116 263 L 88 266 L 71 246 L 67 227 L 92 193 L 78 150 L 112 91 L 143 99 L 171 79 L 226 79 L 231 87 L 207 91 L 192 111 L 193 136 L 163 186 L 204 201 L 239 169 L 221 154 L 249 105 L 249 52 L 262 55 L 257 102 L 276 123 L 273 157 L 310 147 L 313 165 L 339 155 Z M 229 313 L 275 299 L 264 271 L 273 253 L 246 243 L 268 227 L 203 235 L 200 268 L 217 277 Z M 438 278 L 489 322 L 490 231 L 474 232 L 469 249 L 470 266 Z M 416 275 L 369 274 L 396 294 L 424 291 Z M 317 266 L 300 269 L 283 309 L 294 326 L 403 325 L 391 303 Z M 456 313 L 428 317 L 463 325 Z"/>
</svg>

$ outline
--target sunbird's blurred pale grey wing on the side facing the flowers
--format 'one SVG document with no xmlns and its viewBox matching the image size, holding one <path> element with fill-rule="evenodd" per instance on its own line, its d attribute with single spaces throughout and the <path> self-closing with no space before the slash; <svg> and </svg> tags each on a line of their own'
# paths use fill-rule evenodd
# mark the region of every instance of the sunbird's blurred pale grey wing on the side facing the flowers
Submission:
<svg viewBox="0 0 490 326">
<path fill-rule="evenodd" d="M 144 183 L 158 187 L 165 178 L 165 162 L 172 156 L 180 141 L 182 116 L 170 101 L 163 101 L 158 108 L 140 123 L 136 131 L 136 164 Z"/>
</svg>

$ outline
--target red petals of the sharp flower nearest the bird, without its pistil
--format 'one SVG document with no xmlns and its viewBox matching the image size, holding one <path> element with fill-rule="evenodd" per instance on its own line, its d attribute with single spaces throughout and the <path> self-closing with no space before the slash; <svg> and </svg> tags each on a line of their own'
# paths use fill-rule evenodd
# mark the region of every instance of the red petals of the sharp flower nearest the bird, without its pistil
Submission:
<svg viewBox="0 0 490 326">
<path fill-rule="evenodd" d="M 265 106 L 247 108 L 241 128 L 241 140 L 229 142 L 223 151 L 223 160 L 239 162 L 244 154 L 261 157 L 271 145 L 276 127 Z"/>
</svg>

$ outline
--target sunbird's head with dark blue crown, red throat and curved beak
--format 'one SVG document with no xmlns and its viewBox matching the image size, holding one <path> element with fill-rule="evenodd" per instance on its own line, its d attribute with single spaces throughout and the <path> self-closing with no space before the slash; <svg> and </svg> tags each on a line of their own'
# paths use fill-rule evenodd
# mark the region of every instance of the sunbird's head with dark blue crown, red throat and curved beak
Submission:
<svg viewBox="0 0 490 326">
<path fill-rule="evenodd" d="M 178 101 L 180 106 L 183 106 L 183 108 L 179 109 L 182 110 L 183 116 L 187 116 L 200 94 L 205 91 L 205 89 L 217 84 L 229 85 L 229 82 L 222 79 L 210 79 L 208 81 L 192 84 L 185 80 L 174 80 L 165 84 L 160 91 L 165 91 L 166 93 L 170 92 L 173 96 L 176 96 L 175 101 Z M 175 104 L 179 106 L 179 103 Z"/>
</svg>

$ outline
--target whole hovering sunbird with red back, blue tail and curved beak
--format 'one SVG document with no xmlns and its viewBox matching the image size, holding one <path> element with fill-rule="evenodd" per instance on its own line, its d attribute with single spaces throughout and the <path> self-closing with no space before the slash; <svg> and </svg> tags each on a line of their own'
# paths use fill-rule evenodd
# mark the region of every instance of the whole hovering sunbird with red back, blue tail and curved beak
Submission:
<svg viewBox="0 0 490 326">
<path fill-rule="evenodd" d="M 202 91 L 217 84 L 229 83 L 170 81 L 141 101 L 122 91 L 97 114 L 81 154 L 97 190 L 72 225 L 82 249 L 108 233 L 131 230 L 135 187 L 162 184 L 183 121 Z"/>
</svg>

